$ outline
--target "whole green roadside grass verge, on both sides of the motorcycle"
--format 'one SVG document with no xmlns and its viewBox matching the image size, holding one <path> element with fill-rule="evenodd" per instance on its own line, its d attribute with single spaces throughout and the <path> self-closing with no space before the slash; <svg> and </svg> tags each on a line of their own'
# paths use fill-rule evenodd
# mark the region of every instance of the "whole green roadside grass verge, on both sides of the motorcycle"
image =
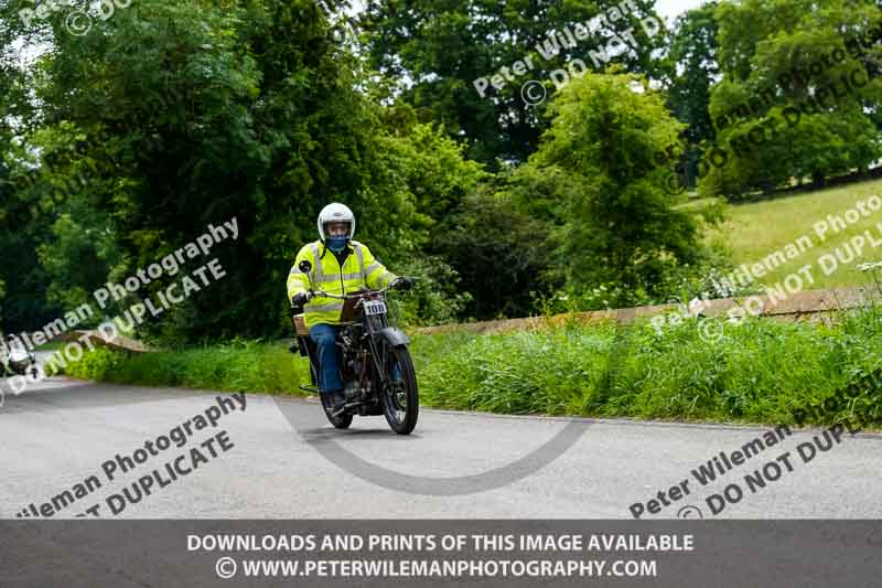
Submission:
<svg viewBox="0 0 882 588">
<path fill-rule="evenodd" d="M 720 322 L 708 342 L 696 320 L 657 333 L 646 323 L 506 334 L 418 335 L 411 351 L 423 406 L 504 414 L 667 420 L 882 424 L 882 389 L 842 391 L 882 365 L 882 312 L 833 325 L 751 319 Z M 299 394 L 305 362 L 259 344 L 126 355 L 98 351 L 75 377 L 125 384 Z M 864 389 L 867 388 L 867 389 Z M 830 399 L 836 399 L 830 403 Z M 830 408 L 830 407 L 833 408 Z"/>
</svg>

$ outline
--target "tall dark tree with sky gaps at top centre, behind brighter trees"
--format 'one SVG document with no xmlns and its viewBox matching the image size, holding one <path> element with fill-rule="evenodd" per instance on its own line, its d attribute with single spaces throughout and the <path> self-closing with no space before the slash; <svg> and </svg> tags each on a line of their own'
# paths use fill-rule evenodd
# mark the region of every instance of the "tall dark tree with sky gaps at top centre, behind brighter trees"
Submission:
<svg viewBox="0 0 882 588">
<path fill-rule="evenodd" d="M 535 109 L 521 97 L 528 79 L 546 81 L 553 94 L 552 71 L 566 70 L 573 57 L 593 67 L 589 51 L 607 47 L 628 29 L 635 43 L 625 41 L 630 50 L 615 62 L 653 71 L 652 52 L 664 35 L 649 36 L 639 20 L 653 15 L 654 6 L 655 0 L 369 0 L 361 25 L 372 65 L 398 82 L 401 97 L 463 140 L 470 159 L 496 170 L 497 159 L 523 162 L 538 146 L 544 107 Z M 609 26 L 567 46 L 564 29 L 572 34 L 577 24 L 613 9 Z M 516 62 L 525 62 L 528 73 L 517 75 Z M 476 89 L 475 81 L 488 81 L 502 67 L 513 81 L 501 90 Z"/>
</svg>

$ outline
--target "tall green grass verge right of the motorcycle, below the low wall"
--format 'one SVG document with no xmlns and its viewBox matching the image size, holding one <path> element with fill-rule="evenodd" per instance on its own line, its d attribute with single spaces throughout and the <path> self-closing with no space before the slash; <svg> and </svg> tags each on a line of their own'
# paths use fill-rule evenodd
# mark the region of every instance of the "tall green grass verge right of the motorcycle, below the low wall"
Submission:
<svg viewBox="0 0 882 588">
<path fill-rule="evenodd" d="M 716 342 L 702 336 L 703 319 L 660 334 L 637 323 L 623 328 L 619 343 L 612 325 L 431 335 L 417 340 L 415 355 L 423 398 L 445 408 L 790 424 L 795 410 L 838 397 L 879 365 L 882 329 L 868 320 L 871 313 L 831 328 L 771 319 L 721 322 Z M 849 418 L 882 425 L 873 411 L 880 391 L 862 391 L 870 395 L 864 402 L 811 414 L 810 421 L 820 416 L 827 424 Z"/>
</svg>

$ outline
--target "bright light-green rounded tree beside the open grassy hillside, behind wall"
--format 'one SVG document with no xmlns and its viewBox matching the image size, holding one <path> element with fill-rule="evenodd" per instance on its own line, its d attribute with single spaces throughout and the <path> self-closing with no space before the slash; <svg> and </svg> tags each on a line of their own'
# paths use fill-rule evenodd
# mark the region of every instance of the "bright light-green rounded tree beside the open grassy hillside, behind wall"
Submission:
<svg viewBox="0 0 882 588">
<path fill-rule="evenodd" d="M 574 81 L 552 101 L 551 127 L 530 158 L 570 178 L 556 258 L 572 291 L 612 284 L 652 296 L 667 272 L 700 258 L 695 218 L 675 209 L 653 164 L 684 125 L 646 87 L 630 74 Z"/>
</svg>

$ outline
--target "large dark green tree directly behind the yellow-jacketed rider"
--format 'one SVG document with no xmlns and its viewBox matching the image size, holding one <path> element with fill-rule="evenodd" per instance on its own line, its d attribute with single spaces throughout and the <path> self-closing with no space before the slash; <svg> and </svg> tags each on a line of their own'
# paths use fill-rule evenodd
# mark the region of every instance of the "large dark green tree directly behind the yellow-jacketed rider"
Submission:
<svg viewBox="0 0 882 588">
<path fill-rule="evenodd" d="M 373 180 L 386 172 L 376 163 L 381 124 L 330 19 L 310 0 L 144 0 L 86 35 L 60 30 L 37 64 L 42 115 L 47 126 L 66 121 L 83 136 L 83 149 L 63 167 L 90 165 L 105 183 L 53 213 L 55 234 L 42 250 L 55 291 L 73 277 L 53 264 L 58 253 L 97 253 L 75 236 L 85 221 L 65 216 L 85 204 L 107 213 L 88 222 L 106 224 L 119 248 L 121 261 L 106 276 L 116 280 L 207 224 L 237 217 L 241 238 L 216 253 L 227 277 L 143 330 L 178 340 L 278 335 L 291 261 L 333 200 L 359 214 L 359 231 L 388 257 L 413 206 L 407 193 Z M 164 276 L 141 293 L 172 281 Z"/>
</svg>

